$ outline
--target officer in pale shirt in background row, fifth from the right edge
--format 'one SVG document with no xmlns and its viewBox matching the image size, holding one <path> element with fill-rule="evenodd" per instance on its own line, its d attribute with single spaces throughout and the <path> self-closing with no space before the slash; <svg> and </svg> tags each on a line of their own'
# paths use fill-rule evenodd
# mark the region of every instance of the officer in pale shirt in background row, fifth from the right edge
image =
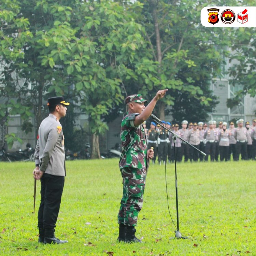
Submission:
<svg viewBox="0 0 256 256">
<path fill-rule="evenodd" d="M 218 132 L 218 141 L 219 141 L 219 155 L 220 160 L 228 161 L 228 152 L 229 152 L 229 130 L 227 130 L 227 123 L 223 122 L 222 128 Z"/>
</svg>

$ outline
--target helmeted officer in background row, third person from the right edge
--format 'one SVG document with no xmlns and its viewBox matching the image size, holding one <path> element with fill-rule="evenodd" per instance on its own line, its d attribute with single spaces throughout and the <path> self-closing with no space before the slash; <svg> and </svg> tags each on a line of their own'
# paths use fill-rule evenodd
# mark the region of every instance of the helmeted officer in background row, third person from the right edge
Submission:
<svg viewBox="0 0 256 256">
<path fill-rule="evenodd" d="M 236 131 L 234 132 L 234 137 L 237 140 L 236 144 L 236 152 L 237 157 L 236 161 L 239 160 L 239 155 L 241 153 L 241 159 L 247 160 L 247 129 L 243 127 L 243 119 L 238 120 L 238 127 Z"/>
</svg>

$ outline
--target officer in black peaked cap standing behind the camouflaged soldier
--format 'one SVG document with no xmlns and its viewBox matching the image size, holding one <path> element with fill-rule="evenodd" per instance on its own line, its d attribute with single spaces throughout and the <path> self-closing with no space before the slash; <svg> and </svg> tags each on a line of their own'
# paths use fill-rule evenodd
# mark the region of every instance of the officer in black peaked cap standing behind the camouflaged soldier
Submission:
<svg viewBox="0 0 256 256">
<path fill-rule="evenodd" d="M 59 119 L 66 115 L 69 103 L 63 97 L 52 97 L 47 105 L 50 114 L 40 124 L 34 153 L 34 179 L 41 180 L 38 242 L 61 244 L 68 241 L 54 235 L 66 176 L 64 136 Z"/>
</svg>

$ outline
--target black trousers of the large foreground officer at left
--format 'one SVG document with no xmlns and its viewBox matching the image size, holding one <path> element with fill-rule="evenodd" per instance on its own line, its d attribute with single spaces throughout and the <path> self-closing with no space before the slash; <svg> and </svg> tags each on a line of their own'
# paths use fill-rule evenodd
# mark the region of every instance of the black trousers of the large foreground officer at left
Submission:
<svg viewBox="0 0 256 256">
<path fill-rule="evenodd" d="M 41 178 L 41 203 L 38 210 L 38 228 L 53 229 L 56 227 L 64 181 L 64 176 L 43 174 Z"/>
</svg>

